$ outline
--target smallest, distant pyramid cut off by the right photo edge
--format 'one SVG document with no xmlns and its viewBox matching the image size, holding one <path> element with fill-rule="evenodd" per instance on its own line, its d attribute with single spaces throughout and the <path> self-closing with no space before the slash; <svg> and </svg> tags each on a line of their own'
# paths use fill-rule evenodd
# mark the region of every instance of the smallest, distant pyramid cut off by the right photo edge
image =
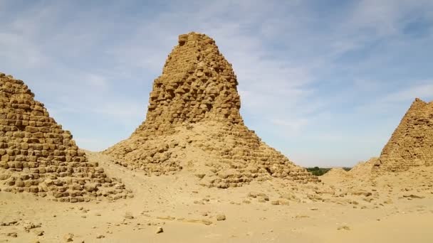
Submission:
<svg viewBox="0 0 433 243">
<path fill-rule="evenodd" d="M 421 99 L 412 103 L 372 171 L 406 171 L 413 166 L 433 166 L 433 102 Z"/>
</svg>

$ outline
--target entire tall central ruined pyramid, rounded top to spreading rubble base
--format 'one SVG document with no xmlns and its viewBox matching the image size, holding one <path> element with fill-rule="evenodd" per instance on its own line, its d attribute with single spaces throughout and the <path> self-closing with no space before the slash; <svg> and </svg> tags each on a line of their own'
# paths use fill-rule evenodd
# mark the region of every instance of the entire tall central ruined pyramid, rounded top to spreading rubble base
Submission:
<svg viewBox="0 0 433 243">
<path fill-rule="evenodd" d="M 272 177 L 317 181 L 244 125 L 237 85 L 212 38 L 194 32 L 179 36 L 153 83 L 145 121 L 104 153 L 149 175 L 194 171 L 208 187 Z"/>
</svg>

